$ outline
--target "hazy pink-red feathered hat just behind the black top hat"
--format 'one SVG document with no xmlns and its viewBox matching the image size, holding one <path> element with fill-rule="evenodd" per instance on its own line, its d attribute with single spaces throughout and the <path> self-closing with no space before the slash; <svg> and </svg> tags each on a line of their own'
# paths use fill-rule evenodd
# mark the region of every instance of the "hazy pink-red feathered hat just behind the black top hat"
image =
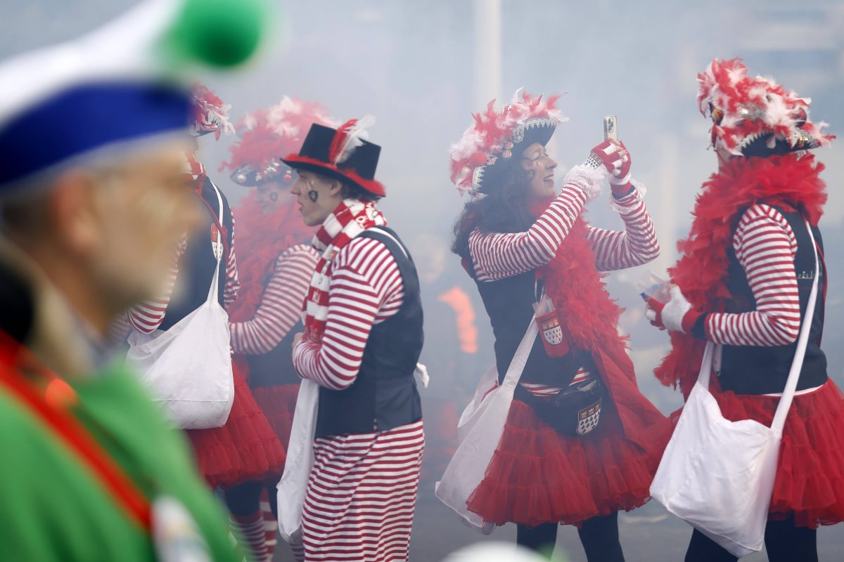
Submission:
<svg viewBox="0 0 844 562">
<path fill-rule="evenodd" d="M 238 185 L 288 183 L 292 174 L 281 157 L 301 146 L 313 123 L 333 126 L 334 120 L 321 104 L 284 96 L 279 104 L 243 118 L 238 124 L 240 139 L 230 147 L 231 159 L 221 169 L 231 169 L 231 179 Z"/>
</svg>

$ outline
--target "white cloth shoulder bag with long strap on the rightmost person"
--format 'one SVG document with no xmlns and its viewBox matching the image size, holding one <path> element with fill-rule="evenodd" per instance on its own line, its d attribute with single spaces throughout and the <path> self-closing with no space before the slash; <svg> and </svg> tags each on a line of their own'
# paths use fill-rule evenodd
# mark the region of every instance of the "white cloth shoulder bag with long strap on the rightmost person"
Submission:
<svg viewBox="0 0 844 562">
<path fill-rule="evenodd" d="M 722 416 L 709 392 L 715 345 L 708 342 L 701 373 L 651 484 L 652 497 L 668 511 L 739 558 L 760 551 L 765 542 L 782 428 L 803 367 L 818 297 L 820 265 L 810 227 L 809 238 L 815 254 L 814 283 L 771 427 Z"/>
</svg>

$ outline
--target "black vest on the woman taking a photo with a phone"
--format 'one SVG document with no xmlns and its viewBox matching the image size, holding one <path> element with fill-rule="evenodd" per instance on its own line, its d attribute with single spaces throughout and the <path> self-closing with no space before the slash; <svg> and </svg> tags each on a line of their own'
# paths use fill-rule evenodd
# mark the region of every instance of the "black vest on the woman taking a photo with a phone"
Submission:
<svg viewBox="0 0 844 562">
<path fill-rule="evenodd" d="M 522 343 L 527 323 L 533 318 L 533 303 L 540 296 L 535 279 L 534 270 L 500 281 L 475 279 L 495 335 L 495 367 L 498 368 L 499 382 L 504 380 L 507 368 Z M 592 357 L 582 350 L 569 351 L 562 357 L 549 357 L 541 337 L 537 335 L 533 341 L 522 371 L 522 382 L 563 388 L 571 383 L 581 367 L 588 368 L 592 364 Z"/>
</svg>

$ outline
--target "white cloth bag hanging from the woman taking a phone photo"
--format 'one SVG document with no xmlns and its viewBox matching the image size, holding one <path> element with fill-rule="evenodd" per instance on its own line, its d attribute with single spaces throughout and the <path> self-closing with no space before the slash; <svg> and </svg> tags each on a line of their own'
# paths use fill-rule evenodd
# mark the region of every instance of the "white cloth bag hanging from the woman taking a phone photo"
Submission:
<svg viewBox="0 0 844 562">
<path fill-rule="evenodd" d="M 436 497 L 463 517 L 464 522 L 484 533 L 491 533 L 495 527 L 484 522 L 477 513 L 468 511 L 466 502 L 484 479 L 504 432 L 513 392 L 522 377 L 527 356 L 530 355 L 538 333 L 534 319 L 531 318 L 501 385 L 496 388 L 498 375 L 495 368 L 481 378 L 474 399 L 460 417 L 457 430 L 460 444 L 442 479 L 436 483 Z"/>
</svg>

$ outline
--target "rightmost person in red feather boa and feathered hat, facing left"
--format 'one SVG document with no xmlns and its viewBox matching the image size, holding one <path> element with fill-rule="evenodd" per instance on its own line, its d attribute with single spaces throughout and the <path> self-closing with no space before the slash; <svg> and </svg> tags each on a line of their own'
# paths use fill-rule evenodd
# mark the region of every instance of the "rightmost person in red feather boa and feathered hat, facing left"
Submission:
<svg viewBox="0 0 844 562">
<path fill-rule="evenodd" d="M 844 402 L 820 349 L 824 165 L 807 152 L 833 137 L 809 120 L 809 99 L 749 76 L 739 59 L 712 61 L 698 80 L 718 171 L 702 186 L 689 238 L 678 244 L 683 256 L 669 270 L 670 300 L 648 300 L 648 317 L 669 330 L 672 343 L 656 375 L 688 396 L 704 346 L 713 342 L 710 390 L 722 415 L 771 425 L 814 281 L 808 222 L 819 292 L 783 430 L 766 548 L 771 560 L 817 560 L 815 529 L 844 521 Z M 736 558 L 695 531 L 685 559 Z"/>
</svg>

